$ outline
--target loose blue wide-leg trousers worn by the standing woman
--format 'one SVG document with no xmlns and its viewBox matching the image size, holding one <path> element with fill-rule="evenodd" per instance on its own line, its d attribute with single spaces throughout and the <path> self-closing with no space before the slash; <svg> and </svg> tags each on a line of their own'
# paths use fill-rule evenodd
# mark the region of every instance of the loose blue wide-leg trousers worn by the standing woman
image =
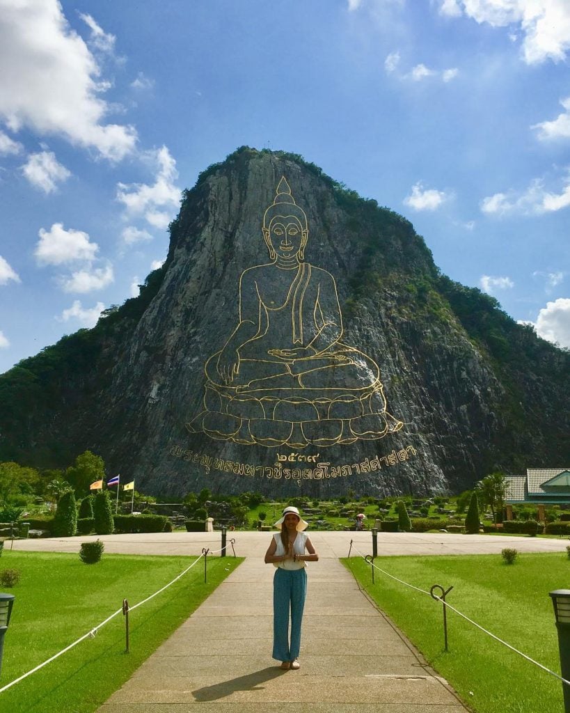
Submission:
<svg viewBox="0 0 570 713">
<path fill-rule="evenodd" d="M 299 657 L 301 621 L 307 593 L 307 573 L 277 568 L 273 578 L 273 657 L 292 661 Z M 289 612 L 291 642 L 289 643 Z"/>
</svg>

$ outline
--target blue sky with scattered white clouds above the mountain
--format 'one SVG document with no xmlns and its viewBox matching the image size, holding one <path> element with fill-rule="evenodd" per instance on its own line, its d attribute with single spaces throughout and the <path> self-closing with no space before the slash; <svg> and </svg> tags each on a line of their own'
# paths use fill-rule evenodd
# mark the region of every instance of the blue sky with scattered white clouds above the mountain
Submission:
<svg viewBox="0 0 570 713">
<path fill-rule="evenodd" d="M 138 294 L 242 145 L 570 347 L 569 64 L 568 0 L 0 0 L 0 373 Z"/>
</svg>

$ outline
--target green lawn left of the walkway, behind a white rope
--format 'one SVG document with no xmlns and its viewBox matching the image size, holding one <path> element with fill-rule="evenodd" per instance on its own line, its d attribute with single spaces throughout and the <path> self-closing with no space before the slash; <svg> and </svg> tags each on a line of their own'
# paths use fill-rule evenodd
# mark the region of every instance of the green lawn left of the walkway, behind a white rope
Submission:
<svg viewBox="0 0 570 713">
<path fill-rule="evenodd" d="M 4 641 L 0 687 L 31 670 L 118 610 L 162 588 L 195 558 L 105 555 L 85 565 L 78 555 L 4 552 L 0 570 L 17 568 L 21 582 Z M 119 614 L 30 677 L 0 694 L 0 713 L 90 713 L 229 575 L 241 559 L 203 560 L 177 583 L 130 612 L 130 653 Z"/>
</svg>

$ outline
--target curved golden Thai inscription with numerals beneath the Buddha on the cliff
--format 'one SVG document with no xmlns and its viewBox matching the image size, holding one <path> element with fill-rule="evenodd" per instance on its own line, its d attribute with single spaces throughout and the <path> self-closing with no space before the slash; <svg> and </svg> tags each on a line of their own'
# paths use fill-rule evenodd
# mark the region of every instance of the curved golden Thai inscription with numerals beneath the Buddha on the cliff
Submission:
<svg viewBox="0 0 570 713">
<path fill-rule="evenodd" d="M 405 446 L 400 451 L 393 450 L 385 456 L 375 456 L 374 458 L 364 458 L 359 463 L 344 463 L 340 466 L 333 466 L 331 463 L 317 462 L 320 453 L 315 456 L 303 456 L 299 453 L 289 453 L 288 456 L 278 454 L 277 462 L 274 466 L 254 466 L 250 463 L 239 463 L 238 461 L 226 461 L 222 458 L 207 456 L 205 453 L 196 453 L 189 448 L 184 448 L 175 444 L 168 446 L 168 453 L 175 458 L 181 458 L 188 463 L 194 463 L 204 468 L 206 473 L 219 471 L 219 473 L 234 473 L 238 476 L 250 478 L 274 478 L 278 480 L 292 480 L 301 486 L 302 481 L 320 481 L 328 478 L 346 478 L 347 476 L 358 475 L 360 473 L 373 473 L 380 471 L 384 467 L 395 466 L 398 463 L 408 461 L 410 456 L 417 455 L 413 446 Z M 291 459 L 291 456 L 295 456 Z M 309 460 L 310 459 L 310 460 Z M 284 467 L 289 463 L 315 463 L 314 468 L 289 468 Z"/>
</svg>

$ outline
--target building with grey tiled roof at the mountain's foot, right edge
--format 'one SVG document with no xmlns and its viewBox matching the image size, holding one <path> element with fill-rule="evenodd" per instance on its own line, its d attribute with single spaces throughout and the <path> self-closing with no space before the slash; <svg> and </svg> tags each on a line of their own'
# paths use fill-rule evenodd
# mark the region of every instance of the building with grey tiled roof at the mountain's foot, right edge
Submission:
<svg viewBox="0 0 570 713">
<path fill-rule="evenodd" d="M 525 477 L 507 480 L 508 505 L 570 505 L 570 468 L 527 468 Z"/>
</svg>

